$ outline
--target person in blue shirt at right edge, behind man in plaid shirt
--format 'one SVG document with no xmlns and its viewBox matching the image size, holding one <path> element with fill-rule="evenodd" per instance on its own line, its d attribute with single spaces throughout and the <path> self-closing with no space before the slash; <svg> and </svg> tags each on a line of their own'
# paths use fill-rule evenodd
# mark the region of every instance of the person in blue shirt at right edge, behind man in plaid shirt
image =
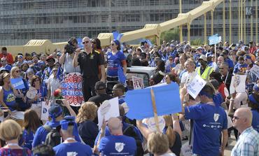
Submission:
<svg viewBox="0 0 259 156">
<path fill-rule="evenodd" d="M 259 95 L 251 94 L 248 97 L 248 106 L 251 107 L 253 114 L 252 127 L 259 132 Z"/>
</svg>

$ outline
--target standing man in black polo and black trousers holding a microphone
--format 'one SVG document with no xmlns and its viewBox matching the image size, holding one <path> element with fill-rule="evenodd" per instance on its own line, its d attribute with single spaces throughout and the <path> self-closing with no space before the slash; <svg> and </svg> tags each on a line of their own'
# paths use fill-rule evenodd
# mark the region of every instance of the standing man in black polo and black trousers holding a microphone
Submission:
<svg viewBox="0 0 259 156">
<path fill-rule="evenodd" d="M 75 56 L 73 57 L 73 66 L 79 65 L 80 73 L 83 76 L 82 92 L 85 101 L 95 94 L 94 85 L 99 81 L 98 73 L 99 66 L 101 67 L 102 78 L 101 81 L 105 82 L 105 69 L 104 61 L 99 52 L 92 49 L 90 38 L 83 38 L 84 49 L 76 49 Z"/>
</svg>

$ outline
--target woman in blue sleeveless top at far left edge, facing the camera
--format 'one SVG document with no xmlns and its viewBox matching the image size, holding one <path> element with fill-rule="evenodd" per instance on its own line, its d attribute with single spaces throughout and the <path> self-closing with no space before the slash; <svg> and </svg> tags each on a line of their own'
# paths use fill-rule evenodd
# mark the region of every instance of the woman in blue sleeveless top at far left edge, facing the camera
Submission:
<svg viewBox="0 0 259 156">
<path fill-rule="evenodd" d="M 23 94 L 18 94 L 17 90 L 13 88 L 10 83 L 10 73 L 0 74 L 0 104 L 3 107 L 8 107 L 10 111 L 15 111 L 18 108 L 18 104 L 15 101 L 15 97 L 23 98 Z"/>
</svg>

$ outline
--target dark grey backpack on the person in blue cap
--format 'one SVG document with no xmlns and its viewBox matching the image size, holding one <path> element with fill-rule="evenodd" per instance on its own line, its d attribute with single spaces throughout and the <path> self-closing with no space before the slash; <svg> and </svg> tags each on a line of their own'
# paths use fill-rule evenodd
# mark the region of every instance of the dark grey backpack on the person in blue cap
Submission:
<svg viewBox="0 0 259 156">
<path fill-rule="evenodd" d="M 45 145 L 54 147 L 62 143 L 62 137 L 57 131 L 57 129 L 52 129 L 48 125 L 44 125 L 43 128 L 48 131 L 48 134 L 45 139 Z"/>
</svg>

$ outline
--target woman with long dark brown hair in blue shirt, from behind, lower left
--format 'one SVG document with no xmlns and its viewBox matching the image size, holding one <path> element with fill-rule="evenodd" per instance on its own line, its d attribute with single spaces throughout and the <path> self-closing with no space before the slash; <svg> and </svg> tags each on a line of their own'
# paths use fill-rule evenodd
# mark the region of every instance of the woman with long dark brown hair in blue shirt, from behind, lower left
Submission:
<svg viewBox="0 0 259 156">
<path fill-rule="evenodd" d="M 36 111 L 28 109 L 25 111 L 24 130 L 22 131 L 22 138 L 20 139 L 20 146 L 29 148 L 31 150 L 32 141 L 34 141 L 34 134 L 38 127 L 41 126 L 41 120 L 38 118 Z"/>
</svg>

